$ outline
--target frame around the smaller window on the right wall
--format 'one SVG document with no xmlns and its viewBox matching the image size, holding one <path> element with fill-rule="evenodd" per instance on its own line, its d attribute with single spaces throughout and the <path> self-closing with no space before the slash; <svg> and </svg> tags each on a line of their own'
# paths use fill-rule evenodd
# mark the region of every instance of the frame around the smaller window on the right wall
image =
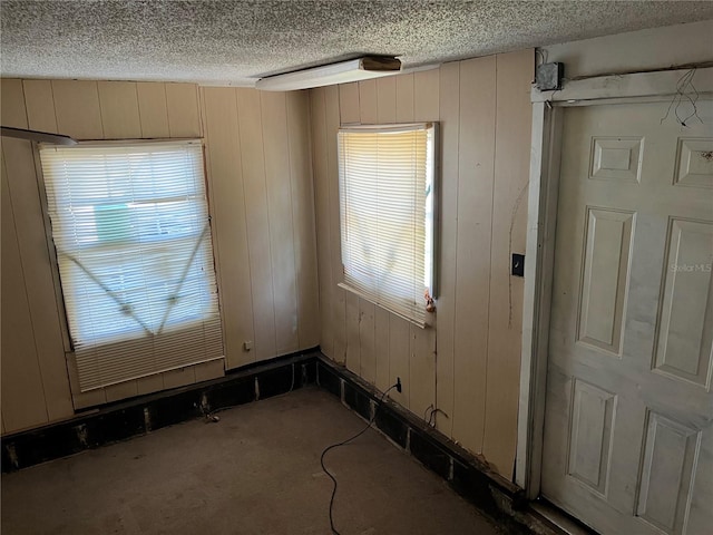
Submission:
<svg viewBox="0 0 713 535">
<path fill-rule="evenodd" d="M 426 184 L 431 184 L 430 191 L 430 203 L 431 203 L 431 216 L 429 217 L 428 204 L 424 207 L 424 221 L 423 221 L 423 231 L 427 236 L 427 244 L 424 245 L 424 253 L 428 251 L 428 236 L 430 235 L 430 247 L 431 254 L 430 256 L 424 255 L 423 270 L 430 269 L 431 279 L 430 284 L 428 285 L 429 295 L 432 300 L 438 296 L 438 259 L 439 259 L 439 234 L 440 234 L 440 125 L 438 121 L 414 121 L 414 123 L 393 123 L 393 124 L 373 124 L 373 125 L 343 125 L 339 128 L 336 134 L 336 147 L 338 147 L 338 183 L 339 183 L 339 200 L 340 200 L 340 261 L 342 262 L 342 272 L 340 276 L 340 281 L 338 282 L 338 286 L 342 288 L 349 292 L 352 292 L 360 298 L 373 303 L 377 307 L 381 307 L 388 312 L 402 318 L 403 320 L 419 327 L 421 329 L 426 329 L 432 325 L 431 311 L 424 312 L 424 320 L 421 321 L 417 318 L 412 318 L 407 315 L 398 310 L 393 310 L 388 303 L 379 302 L 374 296 L 361 291 L 358 288 L 354 288 L 352 284 L 344 280 L 345 266 L 344 266 L 344 243 L 343 243 L 343 228 L 344 225 L 344 214 L 342 213 L 342 188 L 344 187 L 342 182 L 342 155 L 341 155 L 341 145 L 340 145 L 340 134 L 343 132 L 372 132 L 372 133 L 399 133 L 399 132 L 409 132 L 416 129 L 426 129 L 430 130 L 427 140 L 427 177 Z M 430 167 L 429 167 L 430 163 Z M 429 265 L 430 264 L 430 265 Z M 426 284 L 424 284 L 426 286 Z M 427 301 L 423 299 L 422 301 L 423 309 L 427 308 Z"/>
</svg>

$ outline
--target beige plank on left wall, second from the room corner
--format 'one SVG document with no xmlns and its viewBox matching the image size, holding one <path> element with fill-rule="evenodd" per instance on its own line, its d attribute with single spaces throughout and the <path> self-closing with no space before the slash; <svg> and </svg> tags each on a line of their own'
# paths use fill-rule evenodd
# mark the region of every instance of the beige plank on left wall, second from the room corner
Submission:
<svg viewBox="0 0 713 535">
<path fill-rule="evenodd" d="M 270 252 L 275 309 L 276 353 L 296 351 L 297 296 L 292 235 L 292 186 L 287 144 L 287 99 L 284 93 L 260 93 L 265 185 L 270 217 Z"/>
</svg>

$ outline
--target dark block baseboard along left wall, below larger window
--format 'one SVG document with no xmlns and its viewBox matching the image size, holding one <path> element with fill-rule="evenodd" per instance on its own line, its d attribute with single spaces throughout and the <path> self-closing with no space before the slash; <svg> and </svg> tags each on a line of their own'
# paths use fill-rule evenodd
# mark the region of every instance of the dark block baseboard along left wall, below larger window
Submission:
<svg viewBox="0 0 713 535">
<path fill-rule="evenodd" d="M 209 381 L 139 396 L 75 418 L 2 437 L 2 471 L 146 435 L 314 383 L 318 349 L 250 364 Z"/>
</svg>

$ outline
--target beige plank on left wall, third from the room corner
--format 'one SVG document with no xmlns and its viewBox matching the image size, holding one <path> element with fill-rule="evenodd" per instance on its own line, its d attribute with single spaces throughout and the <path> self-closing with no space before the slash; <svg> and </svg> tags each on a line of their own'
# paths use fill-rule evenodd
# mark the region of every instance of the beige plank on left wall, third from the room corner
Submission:
<svg viewBox="0 0 713 535">
<path fill-rule="evenodd" d="M 260 93 L 237 89 L 237 109 L 253 291 L 254 351 L 255 358 L 262 360 L 275 356 L 275 309 Z"/>
</svg>

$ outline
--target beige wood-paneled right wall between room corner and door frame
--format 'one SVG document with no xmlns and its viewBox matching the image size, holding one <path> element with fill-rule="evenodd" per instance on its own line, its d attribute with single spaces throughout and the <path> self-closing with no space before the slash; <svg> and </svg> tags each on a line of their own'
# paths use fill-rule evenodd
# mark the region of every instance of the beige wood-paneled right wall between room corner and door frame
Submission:
<svg viewBox="0 0 713 535">
<path fill-rule="evenodd" d="M 322 350 L 500 474 L 517 441 L 534 51 L 311 91 Z M 336 130 L 440 121 L 438 310 L 419 329 L 341 281 Z"/>
</svg>

